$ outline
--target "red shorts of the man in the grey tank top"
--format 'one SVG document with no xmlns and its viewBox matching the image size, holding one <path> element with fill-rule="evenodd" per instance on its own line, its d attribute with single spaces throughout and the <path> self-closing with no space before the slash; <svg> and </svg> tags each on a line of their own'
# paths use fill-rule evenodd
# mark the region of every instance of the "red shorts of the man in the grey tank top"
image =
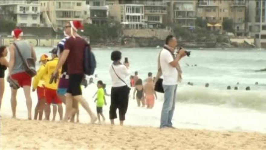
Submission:
<svg viewBox="0 0 266 150">
<path fill-rule="evenodd" d="M 26 72 L 16 73 L 11 75 L 11 78 L 17 80 L 20 87 L 31 86 L 31 76 L 29 76 Z"/>
</svg>

